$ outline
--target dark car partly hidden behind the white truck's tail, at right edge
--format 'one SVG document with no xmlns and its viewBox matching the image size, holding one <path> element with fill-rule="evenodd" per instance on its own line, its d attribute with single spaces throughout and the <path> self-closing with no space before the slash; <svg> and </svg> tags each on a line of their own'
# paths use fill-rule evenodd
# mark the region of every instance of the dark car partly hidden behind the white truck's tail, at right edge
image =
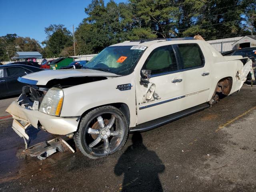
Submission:
<svg viewBox="0 0 256 192">
<path fill-rule="evenodd" d="M 252 65 L 256 65 L 256 47 L 250 47 L 250 48 L 242 48 L 237 50 L 232 50 L 228 52 L 222 53 L 223 56 L 229 56 L 229 55 L 242 55 L 243 57 L 248 57 L 252 60 Z"/>
</svg>

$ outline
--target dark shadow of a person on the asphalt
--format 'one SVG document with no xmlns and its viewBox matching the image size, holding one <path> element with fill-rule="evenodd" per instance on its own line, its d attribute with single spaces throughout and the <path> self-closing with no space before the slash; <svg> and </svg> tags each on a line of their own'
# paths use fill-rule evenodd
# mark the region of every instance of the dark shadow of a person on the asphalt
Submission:
<svg viewBox="0 0 256 192">
<path fill-rule="evenodd" d="M 117 176 L 124 174 L 120 191 L 133 192 L 163 191 L 158 174 L 164 172 L 165 166 L 154 151 L 144 146 L 140 133 L 132 135 L 132 145 L 119 158 L 114 172 Z"/>
</svg>

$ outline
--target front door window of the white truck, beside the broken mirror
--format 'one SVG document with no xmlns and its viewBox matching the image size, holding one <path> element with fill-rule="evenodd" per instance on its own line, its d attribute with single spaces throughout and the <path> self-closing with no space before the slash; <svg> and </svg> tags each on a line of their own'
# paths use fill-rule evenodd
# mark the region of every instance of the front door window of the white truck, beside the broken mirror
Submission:
<svg viewBox="0 0 256 192">
<path fill-rule="evenodd" d="M 162 46 L 154 49 L 148 56 L 143 69 L 151 70 L 151 74 L 171 72 L 178 69 L 172 46 Z"/>
</svg>

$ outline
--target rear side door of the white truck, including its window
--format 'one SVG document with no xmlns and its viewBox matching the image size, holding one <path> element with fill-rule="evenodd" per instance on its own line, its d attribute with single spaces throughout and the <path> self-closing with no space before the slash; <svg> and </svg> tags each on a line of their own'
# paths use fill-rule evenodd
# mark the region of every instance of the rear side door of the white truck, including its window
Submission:
<svg viewBox="0 0 256 192">
<path fill-rule="evenodd" d="M 173 45 L 179 61 L 184 90 L 182 110 L 207 102 L 210 94 L 210 65 L 196 43 Z"/>
</svg>

